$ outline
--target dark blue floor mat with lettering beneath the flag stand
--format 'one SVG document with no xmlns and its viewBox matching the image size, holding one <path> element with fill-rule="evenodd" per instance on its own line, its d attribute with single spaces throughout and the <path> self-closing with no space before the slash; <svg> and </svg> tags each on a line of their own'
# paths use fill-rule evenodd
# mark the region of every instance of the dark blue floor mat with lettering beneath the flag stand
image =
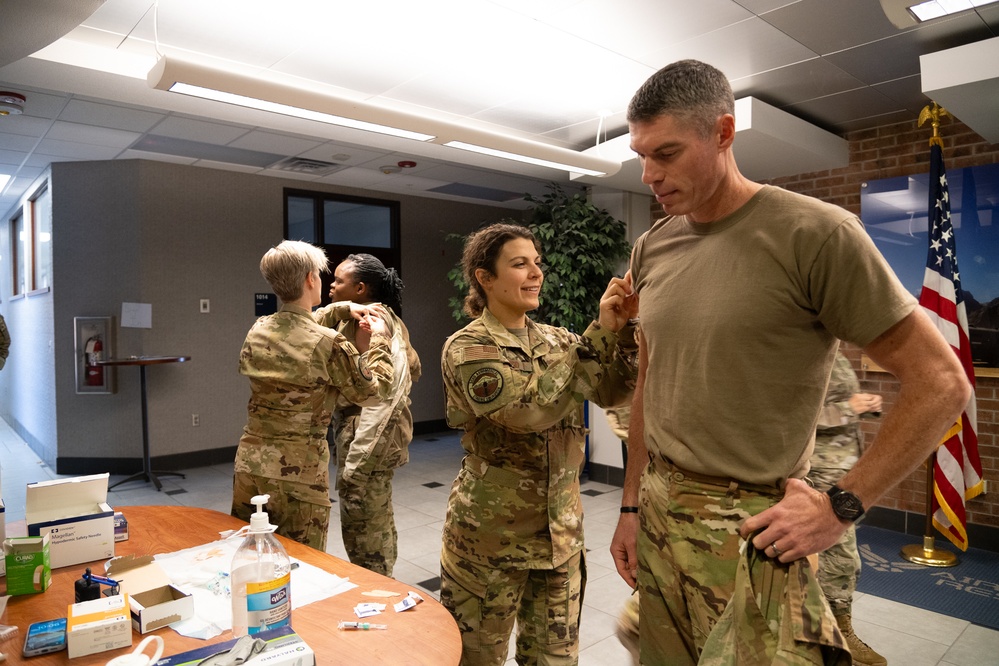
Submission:
<svg viewBox="0 0 999 666">
<path fill-rule="evenodd" d="M 902 546 L 921 543 L 921 537 L 859 526 L 857 591 L 999 629 L 999 554 L 976 548 L 962 553 L 937 535 L 934 547 L 956 554 L 957 565 L 928 567 L 902 557 Z"/>
</svg>

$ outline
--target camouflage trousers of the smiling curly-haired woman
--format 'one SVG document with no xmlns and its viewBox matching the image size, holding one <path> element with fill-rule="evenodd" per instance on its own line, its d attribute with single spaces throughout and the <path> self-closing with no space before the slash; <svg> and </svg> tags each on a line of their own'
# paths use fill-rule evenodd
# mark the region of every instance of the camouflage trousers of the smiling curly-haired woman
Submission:
<svg viewBox="0 0 999 666">
<path fill-rule="evenodd" d="M 579 663 L 586 560 L 554 569 L 497 569 L 441 554 L 441 604 L 461 630 L 460 666 L 503 666 L 514 622 L 519 666 Z"/>
</svg>

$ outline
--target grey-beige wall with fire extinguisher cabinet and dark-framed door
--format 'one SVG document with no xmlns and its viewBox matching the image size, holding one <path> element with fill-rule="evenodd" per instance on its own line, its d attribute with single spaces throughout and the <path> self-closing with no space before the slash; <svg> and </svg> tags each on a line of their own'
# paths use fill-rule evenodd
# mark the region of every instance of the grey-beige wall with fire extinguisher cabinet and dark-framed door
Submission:
<svg viewBox="0 0 999 666">
<path fill-rule="evenodd" d="M 285 187 L 401 203 L 399 268 L 406 283 L 406 323 L 425 369 L 413 389 L 413 415 L 417 422 L 443 419 L 439 353 L 456 328 L 447 306 L 451 287 L 445 273 L 459 252 L 444 236 L 519 215 L 503 208 L 140 160 L 57 163 L 51 186 L 55 268 L 47 298 L 54 312 L 48 336 L 55 357 L 54 403 L 51 396 L 39 395 L 27 407 L 13 405 L 9 397 L 16 391 L 6 373 L 0 374 L 0 413 L 19 424 L 15 427 L 50 464 L 56 456 L 63 461 L 134 460 L 141 453 L 137 368 L 115 371 L 118 390 L 113 395 L 75 393 L 73 318 L 117 319 L 122 302 L 150 303 L 153 325 L 119 327 L 116 355 L 191 357 L 187 363 L 147 370 L 153 457 L 235 446 L 249 396 L 247 382 L 237 372 L 239 348 L 255 318 L 254 294 L 270 291 L 257 266 L 264 251 L 281 240 Z M 210 314 L 199 312 L 202 298 L 210 299 Z M 30 300 L 24 306 L 41 307 L 41 300 L 35 306 Z M 30 353 L 52 351 L 40 343 Z M 57 424 L 57 441 L 25 427 L 38 412 Z M 191 425 L 195 413 L 200 415 L 198 427 Z"/>
</svg>

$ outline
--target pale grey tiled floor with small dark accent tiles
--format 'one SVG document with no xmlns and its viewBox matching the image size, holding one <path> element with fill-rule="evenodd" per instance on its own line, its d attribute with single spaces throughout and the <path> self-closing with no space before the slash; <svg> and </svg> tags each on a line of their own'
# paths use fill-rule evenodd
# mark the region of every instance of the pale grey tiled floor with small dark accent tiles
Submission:
<svg viewBox="0 0 999 666">
<path fill-rule="evenodd" d="M 394 575 L 436 597 L 440 535 L 448 490 L 461 462 L 461 445 L 454 433 L 418 437 L 410 447 L 411 461 L 398 470 L 394 484 L 399 560 Z M 7 521 L 24 517 L 24 484 L 57 478 L 23 441 L 0 420 L 2 495 Z M 166 477 L 163 491 L 131 482 L 109 493 L 114 507 L 135 504 L 201 506 L 228 513 L 231 465 L 187 470 L 187 478 Z M 112 477 L 112 482 L 122 477 Z M 624 666 L 628 655 L 614 635 L 616 612 L 630 593 L 614 570 L 608 546 L 617 525 L 621 490 L 595 482 L 583 484 L 586 512 L 587 569 L 579 663 L 582 666 Z M 345 557 L 337 512 L 333 512 L 329 552 Z M 858 594 L 854 602 L 858 635 L 899 666 L 979 666 L 999 663 L 999 631 L 945 615 Z M 511 650 L 510 654 L 513 654 Z M 511 659 L 508 664 L 513 664 Z"/>
</svg>

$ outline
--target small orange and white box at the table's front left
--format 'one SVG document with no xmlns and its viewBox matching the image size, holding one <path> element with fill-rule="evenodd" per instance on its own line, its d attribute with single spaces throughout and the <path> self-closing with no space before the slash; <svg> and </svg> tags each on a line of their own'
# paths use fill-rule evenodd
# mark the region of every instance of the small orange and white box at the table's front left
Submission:
<svg viewBox="0 0 999 666">
<path fill-rule="evenodd" d="M 83 657 L 132 645 L 128 595 L 101 596 L 70 604 L 66 611 L 66 647 L 69 658 Z"/>
</svg>

